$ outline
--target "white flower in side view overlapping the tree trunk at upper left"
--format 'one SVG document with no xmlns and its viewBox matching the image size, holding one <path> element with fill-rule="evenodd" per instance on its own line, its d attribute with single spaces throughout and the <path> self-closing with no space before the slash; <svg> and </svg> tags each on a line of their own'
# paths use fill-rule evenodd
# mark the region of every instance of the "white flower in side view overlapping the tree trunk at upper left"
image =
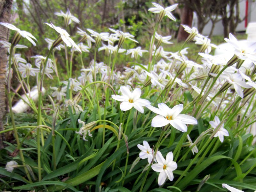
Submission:
<svg viewBox="0 0 256 192">
<path fill-rule="evenodd" d="M 4 27 L 7 27 L 11 30 L 16 31 L 16 33 L 14 34 L 14 36 L 12 37 L 12 44 L 16 45 L 19 43 L 21 36 L 28 39 L 28 41 L 30 41 L 34 46 L 36 46 L 36 43 L 33 39 L 36 40 L 36 37 L 34 37 L 31 33 L 27 32 L 27 31 L 21 31 L 20 29 L 18 29 L 17 27 L 15 27 L 12 24 L 9 23 L 2 23 L 0 22 L 0 25 L 3 25 Z"/>
</svg>

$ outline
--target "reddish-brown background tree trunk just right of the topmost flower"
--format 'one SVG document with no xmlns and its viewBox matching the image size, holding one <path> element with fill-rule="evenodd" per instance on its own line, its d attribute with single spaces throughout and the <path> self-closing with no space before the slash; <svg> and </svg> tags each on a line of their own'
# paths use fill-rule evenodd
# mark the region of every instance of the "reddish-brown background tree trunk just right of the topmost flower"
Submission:
<svg viewBox="0 0 256 192">
<path fill-rule="evenodd" d="M 193 21 L 193 10 L 189 8 L 187 5 L 184 6 L 184 8 L 181 10 L 181 24 L 188 25 L 189 27 L 192 26 Z M 189 36 L 189 33 L 184 31 L 184 28 L 180 25 L 177 41 L 185 41 L 187 37 Z"/>
</svg>

